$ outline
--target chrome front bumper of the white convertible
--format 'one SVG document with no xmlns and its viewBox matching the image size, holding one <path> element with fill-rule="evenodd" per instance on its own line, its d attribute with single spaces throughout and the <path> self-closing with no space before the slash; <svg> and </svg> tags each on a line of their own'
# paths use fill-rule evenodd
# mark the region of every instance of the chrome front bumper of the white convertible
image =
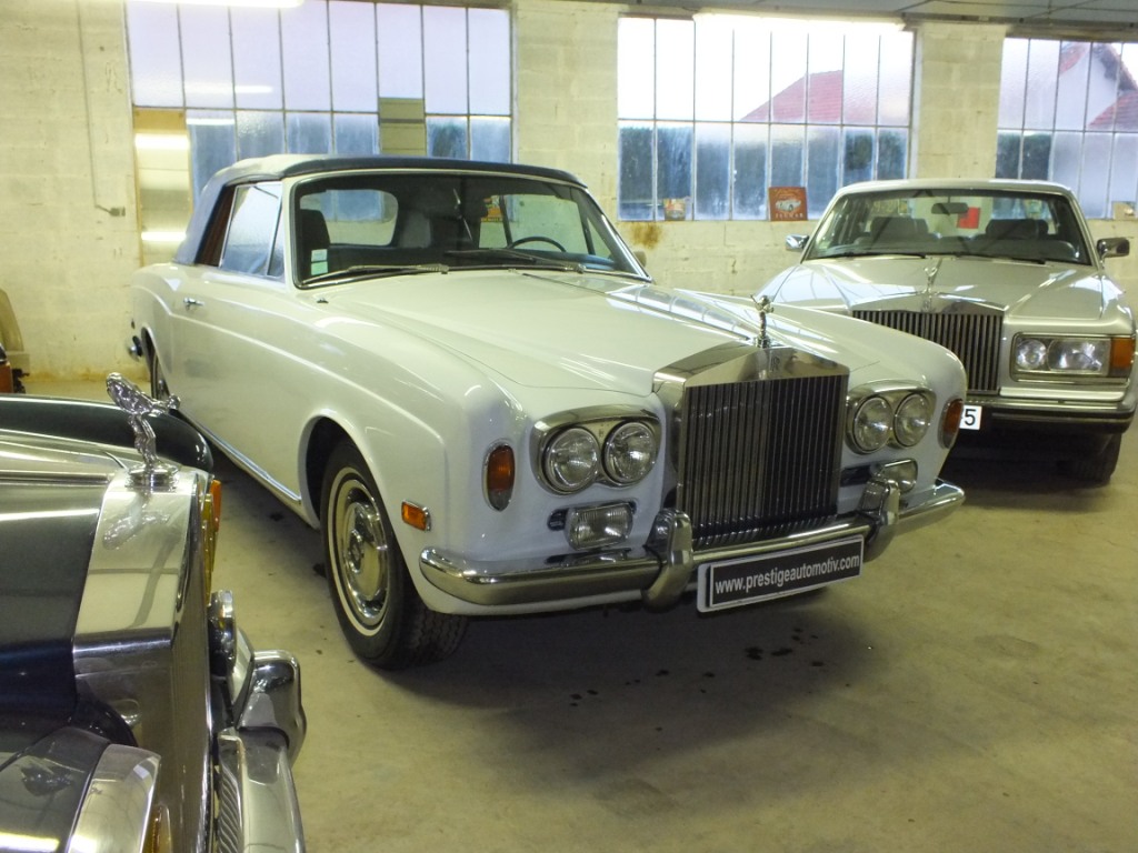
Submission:
<svg viewBox="0 0 1138 853">
<path fill-rule="evenodd" d="M 871 480 L 856 513 L 824 528 L 757 543 L 701 550 L 692 547 L 691 522 L 684 513 L 665 511 L 657 517 L 659 547 L 628 549 L 558 563 L 475 563 L 434 548 L 419 558 L 423 575 L 444 593 L 470 604 L 505 606 L 589 598 L 640 590 L 651 607 L 674 604 L 693 582 L 696 566 L 789 548 L 836 541 L 850 536 L 865 540 L 865 560 L 884 550 L 893 536 L 943 517 L 964 502 L 964 491 L 939 481 L 923 503 L 902 507 L 896 483 Z"/>
</svg>

